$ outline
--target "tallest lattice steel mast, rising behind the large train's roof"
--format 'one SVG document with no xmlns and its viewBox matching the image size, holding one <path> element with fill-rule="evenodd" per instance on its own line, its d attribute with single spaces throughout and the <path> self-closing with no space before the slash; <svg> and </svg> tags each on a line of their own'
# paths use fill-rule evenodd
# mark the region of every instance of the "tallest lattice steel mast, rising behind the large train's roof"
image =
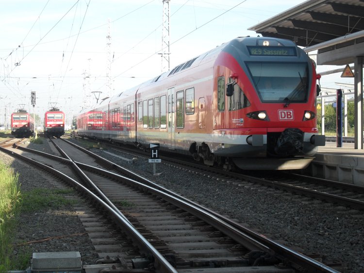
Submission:
<svg viewBox="0 0 364 273">
<path fill-rule="evenodd" d="M 163 26 L 162 26 L 162 72 L 169 70 L 169 1 L 163 1 Z"/>
</svg>

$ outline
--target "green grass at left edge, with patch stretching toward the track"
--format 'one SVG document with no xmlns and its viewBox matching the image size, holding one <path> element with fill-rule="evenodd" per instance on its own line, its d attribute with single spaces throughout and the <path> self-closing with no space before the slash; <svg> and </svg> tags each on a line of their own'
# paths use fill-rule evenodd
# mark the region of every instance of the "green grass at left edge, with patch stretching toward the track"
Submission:
<svg viewBox="0 0 364 273">
<path fill-rule="evenodd" d="M 59 209 L 71 204 L 65 194 L 72 189 L 36 188 L 20 192 L 18 174 L 0 162 L 0 272 L 25 270 L 29 266 L 32 252 L 29 245 L 17 249 L 14 255 L 12 245 L 17 230 L 17 218 L 22 212 L 29 213 L 41 209 Z"/>
</svg>

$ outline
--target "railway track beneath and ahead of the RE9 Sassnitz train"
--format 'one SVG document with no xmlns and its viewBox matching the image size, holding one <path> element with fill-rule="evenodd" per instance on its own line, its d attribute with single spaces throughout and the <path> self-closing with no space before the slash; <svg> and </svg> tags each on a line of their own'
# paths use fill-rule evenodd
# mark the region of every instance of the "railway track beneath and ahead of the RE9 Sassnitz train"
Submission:
<svg viewBox="0 0 364 273">
<path fill-rule="evenodd" d="M 144 157 L 149 156 L 148 152 L 136 151 L 127 147 L 117 145 L 110 145 L 110 147 L 123 151 L 126 150 Z M 173 155 L 168 156 L 166 154 L 164 156 L 160 155 L 159 158 L 167 164 L 179 165 L 197 174 L 209 175 L 220 180 L 236 179 L 237 181 L 248 181 L 281 191 L 320 199 L 353 209 L 364 210 L 364 187 L 362 186 L 288 172 L 263 171 L 250 172 L 249 174 L 227 172 L 187 160 L 179 160 L 174 158 Z"/>
</svg>

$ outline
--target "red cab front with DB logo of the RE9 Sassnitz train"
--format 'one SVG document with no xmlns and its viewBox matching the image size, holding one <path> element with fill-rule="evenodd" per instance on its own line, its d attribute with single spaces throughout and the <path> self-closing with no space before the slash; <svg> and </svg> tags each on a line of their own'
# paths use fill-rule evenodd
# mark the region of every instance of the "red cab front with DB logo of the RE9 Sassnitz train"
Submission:
<svg viewBox="0 0 364 273">
<path fill-rule="evenodd" d="M 237 60 L 226 86 L 225 124 L 235 130 L 232 134 L 240 134 L 240 141 L 231 138 L 236 144 L 231 149 L 234 163 L 242 169 L 308 166 L 317 146 L 325 145 L 317 129 L 320 75 L 312 60 L 291 41 L 266 37 L 240 40 L 225 51 Z M 218 96 L 218 88 L 219 111 L 223 96 Z"/>
</svg>

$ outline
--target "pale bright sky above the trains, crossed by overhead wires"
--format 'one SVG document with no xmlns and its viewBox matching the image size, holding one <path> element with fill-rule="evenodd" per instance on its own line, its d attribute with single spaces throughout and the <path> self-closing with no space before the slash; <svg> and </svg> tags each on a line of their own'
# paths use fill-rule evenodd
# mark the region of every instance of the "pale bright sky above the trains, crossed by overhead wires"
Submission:
<svg viewBox="0 0 364 273">
<path fill-rule="evenodd" d="M 170 0 L 169 67 L 238 36 L 257 36 L 247 29 L 302 2 Z M 70 124 L 73 115 L 96 102 L 95 95 L 119 94 L 167 70 L 160 54 L 162 0 L 0 3 L 0 124 L 16 109 L 42 117 L 54 106 L 66 112 Z M 340 75 L 324 76 L 321 86 L 336 89 L 335 82 L 351 82 Z"/>
</svg>

